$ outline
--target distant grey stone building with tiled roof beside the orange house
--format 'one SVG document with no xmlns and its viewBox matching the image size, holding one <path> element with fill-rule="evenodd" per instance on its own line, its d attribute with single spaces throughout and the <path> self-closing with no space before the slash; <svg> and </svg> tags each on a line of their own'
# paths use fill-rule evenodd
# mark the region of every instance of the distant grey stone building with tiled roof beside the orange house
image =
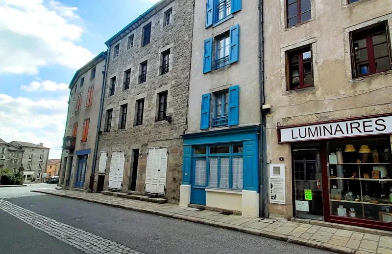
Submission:
<svg viewBox="0 0 392 254">
<path fill-rule="evenodd" d="M 35 145 L 29 142 L 11 141 L 9 144 L 23 150 L 22 164 L 25 168 L 23 174 L 25 180 L 35 179 L 36 182 L 41 182 L 42 173 L 46 172 L 48 165 L 50 148 L 44 147 L 44 143 Z"/>
</svg>

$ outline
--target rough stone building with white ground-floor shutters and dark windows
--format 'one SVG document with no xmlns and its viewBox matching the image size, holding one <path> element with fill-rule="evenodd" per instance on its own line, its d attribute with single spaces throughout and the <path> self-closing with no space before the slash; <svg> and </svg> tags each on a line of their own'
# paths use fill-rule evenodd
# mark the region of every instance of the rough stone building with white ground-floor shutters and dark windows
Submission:
<svg viewBox="0 0 392 254">
<path fill-rule="evenodd" d="M 98 191 L 132 191 L 178 202 L 192 23 L 192 0 L 164 0 L 106 42 Z M 121 157 L 118 164 L 113 156 Z"/>
</svg>

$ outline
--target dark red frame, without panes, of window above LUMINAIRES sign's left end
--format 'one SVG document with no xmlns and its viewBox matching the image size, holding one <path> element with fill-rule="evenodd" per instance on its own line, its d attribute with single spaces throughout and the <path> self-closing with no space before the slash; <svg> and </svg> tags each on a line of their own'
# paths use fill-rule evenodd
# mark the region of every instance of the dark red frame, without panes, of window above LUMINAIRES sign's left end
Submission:
<svg viewBox="0 0 392 254">
<path fill-rule="evenodd" d="M 303 53 L 310 52 L 310 60 L 303 61 Z M 298 56 L 298 63 L 292 64 L 291 59 L 294 56 Z M 310 62 L 311 64 L 311 71 L 304 73 L 304 63 Z M 296 90 L 305 87 L 311 87 L 314 85 L 313 83 L 313 57 L 312 57 L 312 46 L 307 45 L 305 47 L 301 47 L 299 49 L 295 49 L 293 51 L 289 51 L 286 53 L 286 64 L 287 64 L 287 90 Z M 298 66 L 298 75 L 292 76 L 293 67 Z M 312 74 L 312 84 L 305 84 L 305 75 Z M 299 77 L 299 86 L 293 87 L 293 78 Z"/>
</svg>

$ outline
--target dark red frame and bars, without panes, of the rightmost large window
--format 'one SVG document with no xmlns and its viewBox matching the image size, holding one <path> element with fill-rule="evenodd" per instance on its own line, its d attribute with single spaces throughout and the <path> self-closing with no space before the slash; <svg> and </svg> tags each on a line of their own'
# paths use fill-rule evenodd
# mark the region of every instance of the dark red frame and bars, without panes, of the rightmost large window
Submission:
<svg viewBox="0 0 392 254">
<path fill-rule="evenodd" d="M 373 34 L 377 33 L 377 32 L 385 32 L 386 35 L 386 41 L 385 42 L 380 42 L 380 43 L 375 43 L 373 44 Z M 366 39 L 366 46 L 365 47 L 358 47 L 355 48 L 355 41 L 356 40 L 360 40 L 360 39 Z M 388 29 L 388 24 L 387 22 L 383 22 L 382 24 L 378 24 L 374 27 L 368 28 L 366 30 L 363 31 L 354 31 L 350 34 L 350 43 L 351 43 L 351 62 L 352 62 L 352 70 L 353 70 L 353 78 L 357 78 L 357 77 L 364 77 L 364 76 L 368 76 L 368 75 L 372 75 L 375 73 L 380 73 L 380 72 L 385 72 L 388 70 L 392 69 L 391 66 L 391 40 L 389 37 L 389 29 Z M 382 44 L 387 44 L 388 47 L 388 55 L 382 55 L 382 56 L 378 56 L 375 57 L 375 52 L 374 52 L 374 47 L 375 46 L 379 46 Z M 368 51 L 368 59 L 367 60 L 363 60 L 363 61 L 357 61 L 355 53 L 357 51 L 363 50 L 363 49 L 367 49 Z M 382 58 L 386 58 L 389 57 L 389 68 L 388 69 L 384 69 L 384 70 L 376 70 L 376 60 L 378 59 L 382 59 Z M 361 69 L 358 68 L 357 69 L 357 64 L 358 63 L 368 63 L 368 73 L 366 74 L 361 74 Z"/>
</svg>

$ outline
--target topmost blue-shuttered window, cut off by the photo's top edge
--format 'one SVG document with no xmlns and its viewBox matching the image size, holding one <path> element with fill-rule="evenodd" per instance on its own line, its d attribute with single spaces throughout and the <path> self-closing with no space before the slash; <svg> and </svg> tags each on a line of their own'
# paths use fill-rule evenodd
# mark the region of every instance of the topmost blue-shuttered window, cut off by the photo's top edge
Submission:
<svg viewBox="0 0 392 254">
<path fill-rule="evenodd" d="M 207 0 L 205 27 L 224 22 L 238 11 L 241 11 L 241 0 Z"/>
</svg>

